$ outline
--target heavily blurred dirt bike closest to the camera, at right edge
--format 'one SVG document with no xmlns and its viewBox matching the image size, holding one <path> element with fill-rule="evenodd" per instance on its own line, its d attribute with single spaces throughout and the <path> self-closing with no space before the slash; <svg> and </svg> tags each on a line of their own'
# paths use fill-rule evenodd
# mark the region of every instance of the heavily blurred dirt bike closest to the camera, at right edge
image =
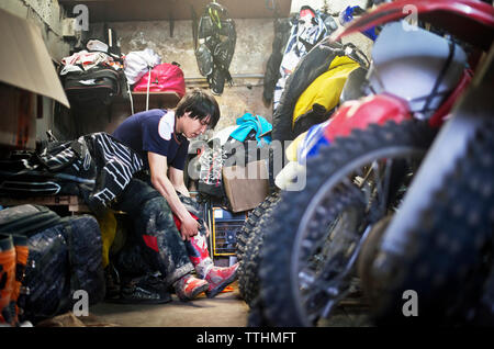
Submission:
<svg viewBox="0 0 494 349">
<path fill-rule="evenodd" d="M 374 232 L 371 251 L 363 249 L 360 275 L 378 325 L 494 324 L 494 10 L 469 3 L 471 32 L 457 34 L 485 50 L 483 60 L 400 210 Z M 452 8 L 444 26 L 458 30 L 451 23 L 461 12 Z M 409 291 L 417 304 L 405 316 Z"/>
</svg>

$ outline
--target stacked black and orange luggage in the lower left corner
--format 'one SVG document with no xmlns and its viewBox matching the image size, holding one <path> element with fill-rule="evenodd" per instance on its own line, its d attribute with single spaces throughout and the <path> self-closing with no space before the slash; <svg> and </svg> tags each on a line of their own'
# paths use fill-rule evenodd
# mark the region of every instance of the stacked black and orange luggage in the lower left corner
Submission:
<svg viewBox="0 0 494 349">
<path fill-rule="evenodd" d="M 0 323 L 19 326 L 104 297 L 102 243 L 91 215 L 60 217 L 45 206 L 0 211 Z"/>
</svg>

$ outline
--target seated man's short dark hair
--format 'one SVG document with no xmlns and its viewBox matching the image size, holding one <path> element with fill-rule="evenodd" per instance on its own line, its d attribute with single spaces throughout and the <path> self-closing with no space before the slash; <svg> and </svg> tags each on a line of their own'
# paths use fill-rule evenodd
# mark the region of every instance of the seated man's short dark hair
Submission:
<svg viewBox="0 0 494 349">
<path fill-rule="evenodd" d="M 203 120 L 211 115 L 210 127 L 214 128 L 220 120 L 220 106 L 211 94 L 194 89 L 187 93 L 177 104 L 175 114 L 182 117 L 184 113 L 191 112 L 190 117 Z"/>
</svg>

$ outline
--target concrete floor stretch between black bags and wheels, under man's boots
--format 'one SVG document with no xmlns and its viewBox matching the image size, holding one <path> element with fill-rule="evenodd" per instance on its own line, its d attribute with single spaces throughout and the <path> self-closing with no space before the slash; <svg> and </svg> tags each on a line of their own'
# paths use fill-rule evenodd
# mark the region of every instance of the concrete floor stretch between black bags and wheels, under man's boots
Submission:
<svg viewBox="0 0 494 349">
<path fill-rule="evenodd" d="M 102 302 L 90 307 L 91 322 L 126 327 L 246 327 L 248 305 L 235 282 L 233 291 L 214 299 L 201 294 L 181 302 L 172 294 L 166 304 L 115 304 Z"/>
</svg>

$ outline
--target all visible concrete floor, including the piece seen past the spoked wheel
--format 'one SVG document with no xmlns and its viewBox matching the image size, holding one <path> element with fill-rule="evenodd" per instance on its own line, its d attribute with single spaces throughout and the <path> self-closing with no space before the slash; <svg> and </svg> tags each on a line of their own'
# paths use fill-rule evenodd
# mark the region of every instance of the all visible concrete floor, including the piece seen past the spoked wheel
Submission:
<svg viewBox="0 0 494 349">
<path fill-rule="evenodd" d="M 87 326 L 124 327 L 247 327 L 248 305 L 240 297 L 238 282 L 233 291 L 210 300 L 204 294 L 193 302 L 181 302 L 172 294 L 166 304 L 115 304 L 102 302 L 90 307 Z M 318 327 L 368 327 L 368 307 L 360 302 L 343 301 L 329 319 Z"/>
</svg>

